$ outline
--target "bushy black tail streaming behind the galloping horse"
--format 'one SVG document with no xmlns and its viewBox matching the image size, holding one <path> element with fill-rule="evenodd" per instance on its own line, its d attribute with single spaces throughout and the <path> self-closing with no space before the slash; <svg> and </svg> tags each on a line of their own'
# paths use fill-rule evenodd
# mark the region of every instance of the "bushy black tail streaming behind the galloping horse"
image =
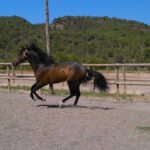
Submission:
<svg viewBox="0 0 150 150">
<path fill-rule="evenodd" d="M 94 78 L 94 89 L 97 88 L 100 91 L 108 91 L 108 82 L 106 78 L 100 73 L 87 69 L 87 76 L 84 79 L 84 83 Z"/>
</svg>

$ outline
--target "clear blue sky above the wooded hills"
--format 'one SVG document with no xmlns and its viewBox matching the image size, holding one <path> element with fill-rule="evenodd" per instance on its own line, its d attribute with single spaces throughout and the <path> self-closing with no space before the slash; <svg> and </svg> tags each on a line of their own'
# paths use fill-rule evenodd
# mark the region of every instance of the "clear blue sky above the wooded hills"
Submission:
<svg viewBox="0 0 150 150">
<path fill-rule="evenodd" d="M 0 0 L 0 16 L 45 22 L 45 0 Z M 150 0 L 49 0 L 50 22 L 62 16 L 108 16 L 150 25 Z"/>
</svg>

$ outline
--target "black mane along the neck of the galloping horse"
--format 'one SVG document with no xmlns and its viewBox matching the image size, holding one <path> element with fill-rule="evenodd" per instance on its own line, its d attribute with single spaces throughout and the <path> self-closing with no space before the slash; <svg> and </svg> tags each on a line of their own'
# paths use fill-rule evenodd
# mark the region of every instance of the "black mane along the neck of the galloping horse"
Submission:
<svg viewBox="0 0 150 150">
<path fill-rule="evenodd" d="M 37 47 L 35 44 L 31 44 L 29 46 L 29 50 L 36 52 L 39 57 L 40 61 L 45 65 L 54 64 L 54 60 L 51 56 L 48 56 L 42 49 Z"/>
</svg>

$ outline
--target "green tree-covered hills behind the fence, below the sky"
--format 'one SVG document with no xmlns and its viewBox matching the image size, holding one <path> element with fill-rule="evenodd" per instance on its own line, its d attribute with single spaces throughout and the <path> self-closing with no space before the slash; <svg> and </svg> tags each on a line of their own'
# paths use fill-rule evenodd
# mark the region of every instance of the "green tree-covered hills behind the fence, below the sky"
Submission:
<svg viewBox="0 0 150 150">
<path fill-rule="evenodd" d="M 150 62 L 150 26 L 144 23 L 66 16 L 53 20 L 50 34 L 52 55 L 57 61 Z M 44 24 L 31 24 L 17 16 L 0 17 L 0 61 L 11 61 L 27 43 L 46 49 Z"/>
</svg>

